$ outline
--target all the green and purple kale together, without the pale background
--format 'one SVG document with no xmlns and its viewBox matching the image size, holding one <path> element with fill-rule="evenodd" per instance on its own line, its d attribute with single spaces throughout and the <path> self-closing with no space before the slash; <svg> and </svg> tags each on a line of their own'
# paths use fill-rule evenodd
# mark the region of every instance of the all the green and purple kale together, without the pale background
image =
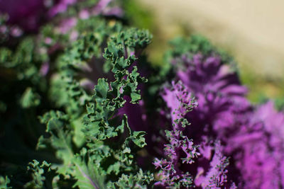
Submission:
<svg viewBox="0 0 284 189">
<path fill-rule="evenodd" d="M 284 114 L 226 52 L 176 38 L 157 69 L 124 1 L 27 2 L 0 9 L 0 188 L 284 187 Z"/>
</svg>

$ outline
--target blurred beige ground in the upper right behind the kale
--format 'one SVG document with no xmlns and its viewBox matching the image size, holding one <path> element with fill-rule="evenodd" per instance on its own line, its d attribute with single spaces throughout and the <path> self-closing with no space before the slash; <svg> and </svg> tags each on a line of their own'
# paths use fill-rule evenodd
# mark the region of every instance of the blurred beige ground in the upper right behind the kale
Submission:
<svg viewBox="0 0 284 189">
<path fill-rule="evenodd" d="M 200 33 L 235 57 L 244 80 L 252 82 L 252 90 L 270 97 L 283 95 L 279 89 L 284 81 L 283 0 L 140 0 L 140 3 L 153 11 L 162 35 L 159 38 L 170 39 L 182 33 L 180 25 L 191 33 Z M 261 85 L 254 86 L 253 79 Z"/>
</svg>

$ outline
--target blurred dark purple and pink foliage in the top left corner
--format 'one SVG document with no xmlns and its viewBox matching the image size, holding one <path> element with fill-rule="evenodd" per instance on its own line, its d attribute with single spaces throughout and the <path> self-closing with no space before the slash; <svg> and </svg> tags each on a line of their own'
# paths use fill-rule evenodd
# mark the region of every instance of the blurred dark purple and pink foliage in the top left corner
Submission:
<svg viewBox="0 0 284 189">
<path fill-rule="evenodd" d="M 84 8 L 79 13 L 82 19 L 89 18 L 91 15 L 105 15 L 105 16 L 123 16 L 123 11 L 119 6 L 109 6 L 113 0 L 99 0 L 91 8 Z M 8 14 L 8 23 L 17 25 L 19 28 L 28 31 L 36 32 L 40 25 L 43 25 L 50 18 L 58 15 L 58 13 L 65 13 L 68 6 L 75 5 L 77 0 L 1 0 L 0 13 Z M 69 18 L 62 21 L 62 28 L 70 25 Z M 66 22 L 66 23 L 65 23 Z M 74 23 L 74 21 L 72 21 Z M 74 24 L 72 24 L 74 26 Z M 66 29 L 65 29 L 66 30 Z M 62 30 L 62 33 L 65 32 Z M 13 35 L 13 33 L 11 34 Z M 17 34 L 14 34 L 17 36 Z"/>
</svg>

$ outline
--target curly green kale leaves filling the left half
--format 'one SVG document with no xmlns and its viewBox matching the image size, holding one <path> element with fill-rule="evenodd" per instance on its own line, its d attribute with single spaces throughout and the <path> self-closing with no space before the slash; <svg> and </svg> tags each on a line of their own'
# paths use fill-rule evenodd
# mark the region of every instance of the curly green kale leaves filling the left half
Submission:
<svg viewBox="0 0 284 189">
<path fill-rule="evenodd" d="M 1 117 L 1 131 L 8 133 L 3 139 L 9 143 L 8 136 L 18 134 L 9 135 L 11 129 L 24 130 L 11 137 L 10 147 L 1 143 L 1 162 L 8 166 L 1 165 L 0 188 L 147 188 L 153 174 L 136 163 L 146 132 L 131 130 L 118 111 L 126 96 L 141 100 L 138 84 L 147 79 L 133 63 L 151 34 L 90 16 L 77 20 L 71 30 L 78 35 L 70 40 L 56 24 L 0 44 L 1 84 L 5 91 L 15 88 L 13 96 L 1 94 L 1 111 L 14 111 L 16 118 Z"/>
</svg>

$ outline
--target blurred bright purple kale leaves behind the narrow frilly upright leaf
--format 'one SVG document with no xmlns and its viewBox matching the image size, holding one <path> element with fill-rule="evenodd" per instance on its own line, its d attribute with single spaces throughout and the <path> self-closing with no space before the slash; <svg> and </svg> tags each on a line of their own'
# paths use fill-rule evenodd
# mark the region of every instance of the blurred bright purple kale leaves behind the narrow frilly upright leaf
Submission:
<svg viewBox="0 0 284 189">
<path fill-rule="evenodd" d="M 178 67 L 180 62 L 182 67 Z M 224 144 L 220 153 L 231 159 L 227 180 L 235 181 L 239 188 L 283 188 L 284 113 L 275 111 L 271 102 L 253 107 L 237 74 L 219 57 L 184 55 L 173 64 L 178 67 L 176 79 L 183 81 L 199 104 L 185 116 L 192 124 L 184 130 L 200 144 L 199 159 L 212 151 L 204 142 L 220 140 Z M 195 184 L 203 187 L 200 180 L 207 174 L 200 176 L 204 170 L 197 170 Z"/>
</svg>

